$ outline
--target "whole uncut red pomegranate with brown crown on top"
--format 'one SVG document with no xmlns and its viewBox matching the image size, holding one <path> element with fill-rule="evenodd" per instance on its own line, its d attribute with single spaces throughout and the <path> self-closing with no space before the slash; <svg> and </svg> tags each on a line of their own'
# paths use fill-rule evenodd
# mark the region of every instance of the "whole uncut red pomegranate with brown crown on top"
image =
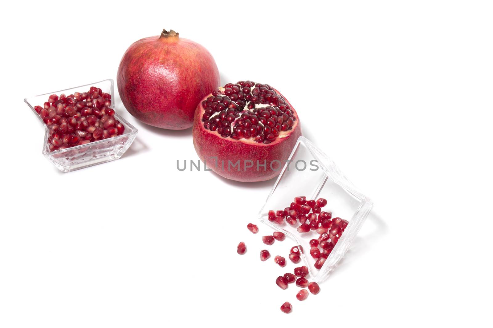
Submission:
<svg viewBox="0 0 493 328">
<path fill-rule="evenodd" d="M 182 130 L 192 126 L 197 103 L 219 86 L 219 71 L 206 48 L 163 30 L 127 49 L 116 83 L 123 105 L 136 119 Z"/>
</svg>

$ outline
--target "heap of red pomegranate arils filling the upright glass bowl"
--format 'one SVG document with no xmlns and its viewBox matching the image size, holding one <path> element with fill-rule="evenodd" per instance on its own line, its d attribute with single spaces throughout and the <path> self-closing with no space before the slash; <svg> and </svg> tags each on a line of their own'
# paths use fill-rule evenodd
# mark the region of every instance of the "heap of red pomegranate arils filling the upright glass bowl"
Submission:
<svg viewBox="0 0 493 328">
<path fill-rule="evenodd" d="M 91 87 L 88 92 L 68 96 L 52 94 L 36 113 L 48 126 L 50 151 L 88 144 L 118 136 L 125 126 L 114 118 L 111 95 Z"/>
</svg>

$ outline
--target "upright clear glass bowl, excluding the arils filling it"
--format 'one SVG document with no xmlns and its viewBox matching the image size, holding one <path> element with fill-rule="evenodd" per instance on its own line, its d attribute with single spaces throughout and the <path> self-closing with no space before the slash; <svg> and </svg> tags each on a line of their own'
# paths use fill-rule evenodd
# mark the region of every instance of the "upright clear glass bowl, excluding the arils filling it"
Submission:
<svg viewBox="0 0 493 328">
<path fill-rule="evenodd" d="M 114 117 L 125 126 L 124 133 L 116 137 L 102 139 L 88 144 L 50 152 L 50 150 L 48 149 L 48 126 L 44 124 L 41 117 L 36 113 L 34 106 L 39 105 L 42 107 L 43 103 L 48 100 L 50 94 L 55 93 L 57 95 L 60 95 L 61 93 L 65 93 L 66 95 L 69 95 L 73 94 L 74 92 L 88 91 L 90 87 L 100 88 L 101 90 L 103 90 L 103 92 L 109 93 L 111 95 L 111 108 L 114 108 L 114 82 L 111 79 L 86 84 L 84 86 L 79 86 L 75 88 L 53 91 L 24 99 L 26 104 L 28 104 L 35 116 L 44 126 L 45 134 L 43 141 L 43 155 L 60 171 L 70 172 L 82 169 L 84 167 L 114 161 L 115 159 L 120 158 L 123 153 L 130 147 L 130 145 L 132 145 L 137 132 L 139 132 L 137 128 L 135 128 L 135 126 L 133 126 L 127 120 L 123 119 L 121 116 L 115 113 Z"/>
</svg>

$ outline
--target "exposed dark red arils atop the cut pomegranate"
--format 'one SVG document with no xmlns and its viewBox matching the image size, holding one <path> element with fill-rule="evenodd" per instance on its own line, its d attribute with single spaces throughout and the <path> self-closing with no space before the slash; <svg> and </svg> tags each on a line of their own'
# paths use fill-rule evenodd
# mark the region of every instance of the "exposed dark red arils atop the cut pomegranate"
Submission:
<svg viewBox="0 0 493 328">
<path fill-rule="evenodd" d="M 202 102 L 204 128 L 223 138 L 269 144 L 292 129 L 296 117 L 282 95 L 268 84 L 228 83 Z"/>
</svg>

